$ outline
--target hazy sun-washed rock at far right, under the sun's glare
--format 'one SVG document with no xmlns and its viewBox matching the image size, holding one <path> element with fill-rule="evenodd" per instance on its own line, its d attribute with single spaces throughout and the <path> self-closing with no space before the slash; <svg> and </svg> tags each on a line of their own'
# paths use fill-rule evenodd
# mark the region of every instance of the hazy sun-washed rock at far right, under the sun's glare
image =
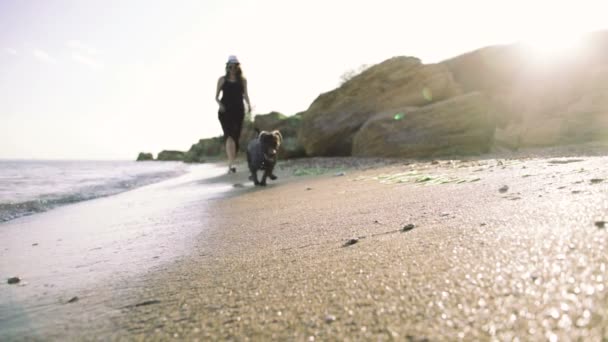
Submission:
<svg viewBox="0 0 608 342">
<path fill-rule="evenodd" d="M 586 35 L 562 55 L 534 55 L 525 44 L 479 49 L 443 62 L 466 91 L 503 104 L 500 147 L 555 146 L 606 139 L 608 32 Z"/>
</svg>

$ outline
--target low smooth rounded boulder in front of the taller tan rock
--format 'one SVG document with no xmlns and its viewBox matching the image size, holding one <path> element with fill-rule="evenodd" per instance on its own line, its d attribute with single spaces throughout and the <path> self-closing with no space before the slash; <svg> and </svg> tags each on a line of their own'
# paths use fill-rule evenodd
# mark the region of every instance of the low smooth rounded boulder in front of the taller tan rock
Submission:
<svg viewBox="0 0 608 342">
<path fill-rule="evenodd" d="M 474 92 L 379 113 L 355 135 L 353 155 L 434 157 L 487 152 L 496 125 L 492 108 L 487 96 Z"/>
</svg>

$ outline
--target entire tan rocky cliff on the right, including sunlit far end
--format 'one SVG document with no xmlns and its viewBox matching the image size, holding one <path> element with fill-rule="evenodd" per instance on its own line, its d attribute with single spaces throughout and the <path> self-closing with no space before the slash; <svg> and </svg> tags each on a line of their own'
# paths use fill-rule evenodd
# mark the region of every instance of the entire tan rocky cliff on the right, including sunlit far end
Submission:
<svg viewBox="0 0 608 342">
<path fill-rule="evenodd" d="M 397 118 L 397 119 L 396 119 Z M 421 157 L 608 138 L 608 32 L 539 60 L 524 44 L 425 65 L 396 57 L 321 94 L 298 132 L 309 156 Z"/>
</svg>

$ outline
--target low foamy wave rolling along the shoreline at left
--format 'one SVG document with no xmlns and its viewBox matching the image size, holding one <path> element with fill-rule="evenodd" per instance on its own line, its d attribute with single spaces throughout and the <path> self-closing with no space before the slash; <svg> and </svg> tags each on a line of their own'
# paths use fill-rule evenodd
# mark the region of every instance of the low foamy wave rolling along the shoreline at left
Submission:
<svg viewBox="0 0 608 342">
<path fill-rule="evenodd" d="M 74 192 L 44 194 L 34 200 L 16 203 L 0 203 L 0 223 L 27 215 L 41 213 L 67 204 L 116 195 L 121 192 L 177 177 L 185 172 L 185 170 L 173 170 L 148 173 L 128 179 L 106 179 L 103 180 L 104 183 L 84 186 Z"/>
</svg>

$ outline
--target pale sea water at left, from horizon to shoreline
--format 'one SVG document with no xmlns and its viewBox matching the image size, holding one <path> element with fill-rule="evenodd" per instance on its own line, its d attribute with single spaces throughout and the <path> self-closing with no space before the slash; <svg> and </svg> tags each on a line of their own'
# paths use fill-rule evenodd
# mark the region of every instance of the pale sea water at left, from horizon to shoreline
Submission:
<svg viewBox="0 0 608 342">
<path fill-rule="evenodd" d="M 0 160 L 0 223 L 186 171 L 179 162 Z"/>
</svg>

